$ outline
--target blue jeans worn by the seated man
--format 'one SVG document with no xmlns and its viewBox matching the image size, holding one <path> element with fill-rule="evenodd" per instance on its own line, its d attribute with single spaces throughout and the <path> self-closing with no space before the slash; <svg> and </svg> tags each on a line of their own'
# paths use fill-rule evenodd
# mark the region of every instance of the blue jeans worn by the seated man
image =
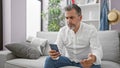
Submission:
<svg viewBox="0 0 120 68">
<path fill-rule="evenodd" d="M 44 68 L 59 68 L 64 66 L 76 66 L 83 68 L 80 63 L 72 62 L 64 56 L 60 56 L 58 60 L 53 60 L 51 57 L 47 57 Z M 101 68 L 101 66 L 93 64 L 92 68 Z"/>
</svg>

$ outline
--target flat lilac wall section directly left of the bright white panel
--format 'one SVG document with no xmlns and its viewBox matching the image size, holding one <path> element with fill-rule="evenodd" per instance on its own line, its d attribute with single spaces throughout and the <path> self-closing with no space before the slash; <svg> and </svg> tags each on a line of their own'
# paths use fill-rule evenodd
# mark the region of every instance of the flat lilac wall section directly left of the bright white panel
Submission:
<svg viewBox="0 0 120 68">
<path fill-rule="evenodd" d="M 11 42 L 25 41 L 26 0 L 11 0 Z"/>
</svg>

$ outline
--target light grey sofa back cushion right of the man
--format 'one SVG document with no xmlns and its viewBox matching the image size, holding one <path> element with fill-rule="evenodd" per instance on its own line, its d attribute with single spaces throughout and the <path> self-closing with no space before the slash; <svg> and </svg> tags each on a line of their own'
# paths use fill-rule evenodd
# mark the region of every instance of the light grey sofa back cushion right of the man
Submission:
<svg viewBox="0 0 120 68">
<path fill-rule="evenodd" d="M 119 62 L 119 36 L 116 31 L 99 31 L 98 36 L 103 48 L 103 59 Z"/>
</svg>

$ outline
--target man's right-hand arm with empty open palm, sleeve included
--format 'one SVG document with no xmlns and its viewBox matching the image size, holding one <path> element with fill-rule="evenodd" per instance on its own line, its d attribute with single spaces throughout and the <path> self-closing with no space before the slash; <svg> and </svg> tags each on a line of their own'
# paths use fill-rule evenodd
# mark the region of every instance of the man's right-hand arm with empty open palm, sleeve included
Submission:
<svg viewBox="0 0 120 68">
<path fill-rule="evenodd" d="M 88 55 L 87 59 L 80 61 L 81 65 L 86 67 L 91 67 L 91 65 L 100 65 L 101 58 L 103 56 L 102 47 L 97 36 L 97 30 L 93 28 L 90 34 L 90 48 L 92 53 Z"/>
</svg>

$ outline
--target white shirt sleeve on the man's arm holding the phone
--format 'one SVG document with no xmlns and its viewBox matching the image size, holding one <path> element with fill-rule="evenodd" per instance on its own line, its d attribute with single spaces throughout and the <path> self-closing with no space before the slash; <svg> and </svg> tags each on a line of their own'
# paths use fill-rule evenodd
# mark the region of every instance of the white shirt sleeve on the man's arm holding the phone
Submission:
<svg viewBox="0 0 120 68">
<path fill-rule="evenodd" d="M 65 56 L 65 47 L 64 47 L 63 38 L 62 38 L 64 36 L 63 33 L 64 32 L 60 29 L 60 31 L 58 32 L 55 44 L 57 44 L 60 54 L 62 56 Z"/>
</svg>

